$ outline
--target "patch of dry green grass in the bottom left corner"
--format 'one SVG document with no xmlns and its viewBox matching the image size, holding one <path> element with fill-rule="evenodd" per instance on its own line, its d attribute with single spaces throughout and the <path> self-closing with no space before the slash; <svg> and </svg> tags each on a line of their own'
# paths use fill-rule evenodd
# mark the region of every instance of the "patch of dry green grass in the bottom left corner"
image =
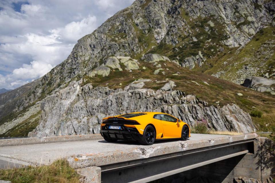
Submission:
<svg viewBox="0 0 275 183">
<path fill-rule="evenodd" d="M 56 160 L 49 166 L 0 169 L 0 180 L 12 183 L 78 183 L 80 176 L 65 159 Z"/>
</svg>

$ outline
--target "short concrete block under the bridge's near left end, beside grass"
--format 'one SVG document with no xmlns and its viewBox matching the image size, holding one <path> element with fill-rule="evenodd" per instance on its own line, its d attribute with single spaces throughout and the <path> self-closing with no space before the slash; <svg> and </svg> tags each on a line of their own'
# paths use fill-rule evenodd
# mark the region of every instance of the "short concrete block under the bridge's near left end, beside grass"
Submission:
<svg viewBox="0 0 275 183">
<path fill-rule="evenodd" d="M 76 170 L 81 175 L 80 182 L 101 183 L 101 168 L 92 166 Z"/>
</svg>

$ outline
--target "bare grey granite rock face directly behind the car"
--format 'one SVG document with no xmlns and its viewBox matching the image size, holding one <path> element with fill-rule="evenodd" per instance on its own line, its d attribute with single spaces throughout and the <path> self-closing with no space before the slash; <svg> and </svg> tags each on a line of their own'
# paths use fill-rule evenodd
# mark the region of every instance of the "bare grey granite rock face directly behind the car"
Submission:
<svg viewBox="0 0 275 183">
<path fill-rule="evenodd" d="M 105 116 L 138 111 L 169 113 L 190 126 L 206 120 L 208 127 L 215 130 L 254 131 L 249 114 L 235 104 L 222 108 L 207 106 L 207 102 L 195 96 L 186 96 L 179 90 L 168 91 L 167 86 L 154 91 L 138 84 L 146 81 L 134 81 L 124 90 L 93 88 L 91 84 L 81 87 L 80 81 L 73 82 L 41 103 L 42 118 L 32 133 L 36 133 L 37 137 L 99 133 L 99 124 Z M 171 81 L 166 84 L 174 85 Z"/>
</svg>

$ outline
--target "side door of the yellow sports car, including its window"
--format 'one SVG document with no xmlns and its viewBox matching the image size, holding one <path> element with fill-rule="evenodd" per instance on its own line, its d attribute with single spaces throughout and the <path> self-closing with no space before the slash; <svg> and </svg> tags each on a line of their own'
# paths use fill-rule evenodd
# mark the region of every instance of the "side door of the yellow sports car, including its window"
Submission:
<svg viewBox="0 0 275 183">
<path fill-rule="evenodd" d="M 164 136 L 180 137 L 179 135 L 181 135 L 182 129 L 176 118 L 167 114 L 162 114 L 161 123 L 164 130 Z"/>
</svg>

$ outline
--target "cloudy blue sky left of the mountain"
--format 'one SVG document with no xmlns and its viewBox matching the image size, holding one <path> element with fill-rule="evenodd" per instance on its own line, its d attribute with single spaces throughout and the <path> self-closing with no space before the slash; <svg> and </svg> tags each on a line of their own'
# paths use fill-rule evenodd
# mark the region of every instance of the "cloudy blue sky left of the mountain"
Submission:
<svg viewBox="0 0 275 183">
<path fill-rule="evenodd" d="M 0 89 L 42 77 L 78 39 L 133 1 L 0 0 Z"/>
</svg>

